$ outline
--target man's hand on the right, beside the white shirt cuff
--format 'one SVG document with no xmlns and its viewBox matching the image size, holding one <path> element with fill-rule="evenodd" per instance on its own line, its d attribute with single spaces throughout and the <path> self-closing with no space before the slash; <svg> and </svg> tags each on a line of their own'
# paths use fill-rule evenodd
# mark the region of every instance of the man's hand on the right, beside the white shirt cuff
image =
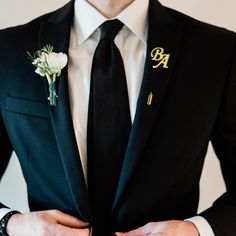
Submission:
<svg viewBox="0 0 236 236">
<path fill-rule="evenodd" d="M 189 221 L 151 222 L 138 229 L 126 233 L 116 233 L 117 236 L 199 236 L 195 225 Z"/>
</svg>

